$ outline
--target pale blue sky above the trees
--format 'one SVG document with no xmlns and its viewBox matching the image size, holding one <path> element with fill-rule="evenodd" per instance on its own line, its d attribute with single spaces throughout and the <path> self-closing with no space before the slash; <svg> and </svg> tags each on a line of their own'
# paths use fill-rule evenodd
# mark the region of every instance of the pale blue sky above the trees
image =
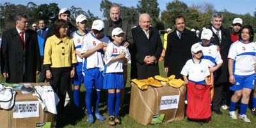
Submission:
<svg viewBox="0 0 256 128">
<path fill-rule="evenodd" d="M 26 5 L 32 0 L 0 0 L 0 3 L 10 2 L 14 4 L 24 4 Z M 138 0 L 109 0 L 112 3 L 121 3 L 124 6 L 136 6 Z M 159 3 L 160 10 L 166 10 L 166 4 L 172 2 L 173 0 L 157 0 Z M 214 8 L 217 11 L 228 10 L 228 12 L 245 14 L 250 13 L 253 15 L 255 12 L 256 4 L 255 0 L 180 0 L 191 6 L 192 4 L 200 3 L 211 3 L 214 4 Z M 102 18 L 102 12 L 100 12 L 100 2 L 101 0 L 33 0 L 33 3 L 40 5 L 44 3 L 57 3 L 59 8 L 70 8 L 72 5 L 82 8 L 84 11 L 90 10 L 94 15 Z"/>
</svg>

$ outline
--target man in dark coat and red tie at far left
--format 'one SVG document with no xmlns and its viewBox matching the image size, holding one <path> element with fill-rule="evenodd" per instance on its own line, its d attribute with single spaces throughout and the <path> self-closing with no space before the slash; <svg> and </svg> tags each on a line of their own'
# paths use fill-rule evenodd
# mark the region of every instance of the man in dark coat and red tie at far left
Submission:
<svg viewBox="0 0 256 128">
<path fill-rule="evenodd" d="M 17 15 L 15 24 L 15 28 L 3 32 L 1 73 L 8 83 L 35 83 L 40 72 L 36 32 L 27 29 L 27 15 Z"/>
</svg>

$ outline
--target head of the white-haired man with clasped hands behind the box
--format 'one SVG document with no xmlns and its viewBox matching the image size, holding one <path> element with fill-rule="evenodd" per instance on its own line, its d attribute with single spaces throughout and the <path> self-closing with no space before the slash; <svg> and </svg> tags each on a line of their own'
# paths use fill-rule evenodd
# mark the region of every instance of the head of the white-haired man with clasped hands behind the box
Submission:
<svg viewBox="0 0 256 128">
<path fill-rule="evenodd" d="M 139 18 L 139 24 L 142 29 L 148 31 L 150 27 L 150 16 L 147 13 L 142 13 Z"/>
</svg>

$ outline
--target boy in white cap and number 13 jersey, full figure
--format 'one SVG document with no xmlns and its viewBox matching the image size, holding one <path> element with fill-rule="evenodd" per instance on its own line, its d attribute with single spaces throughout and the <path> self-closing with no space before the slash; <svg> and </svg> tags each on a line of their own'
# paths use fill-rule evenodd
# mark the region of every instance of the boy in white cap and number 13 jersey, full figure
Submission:
<svg viewBox="0 0 256 128">
<path fill-rule="evenodd" d="M 124 31 L 121 28 L 113 29 L 111 38 L 113 38 L 113 42 L 108 44 L 104 57 L 106 65 L 103 89 L 108 90 L 109 125 L 115 125 L 120 124 L 118 108 L 120 91 L 124 88 L 123 64 L 127 65 L 130 55 L 129 50 L 121 45 L 124 40 Z M 115 116 L 113 116 L 114 107 Z"/>
</svg>

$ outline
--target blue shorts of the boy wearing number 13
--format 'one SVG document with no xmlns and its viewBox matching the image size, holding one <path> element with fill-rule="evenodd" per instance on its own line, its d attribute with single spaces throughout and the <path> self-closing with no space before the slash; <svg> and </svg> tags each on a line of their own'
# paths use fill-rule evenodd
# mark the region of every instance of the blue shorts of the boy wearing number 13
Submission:
<svg viewBox="0 0 256 128">
<path fill-rule="evenodd" d="M 122 89 L 124 88 L 123 72 L 108 73 L 104 75 L 103 89 Z"/>
</svg>

